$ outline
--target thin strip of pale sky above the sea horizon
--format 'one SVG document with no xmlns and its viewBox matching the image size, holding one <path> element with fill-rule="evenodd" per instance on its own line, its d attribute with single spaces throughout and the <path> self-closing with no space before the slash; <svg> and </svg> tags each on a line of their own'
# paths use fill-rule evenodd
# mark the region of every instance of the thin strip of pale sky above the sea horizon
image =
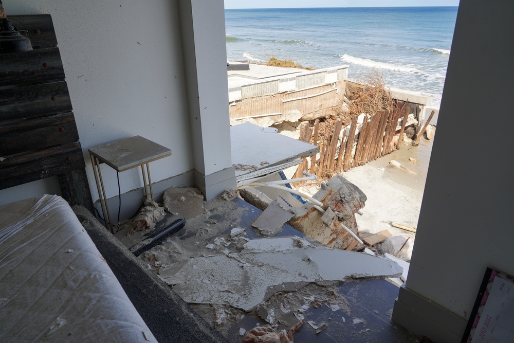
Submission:
<svg viewBox="0 0 514 343">
<path fill-rule="evenodd" d="M 225 8 L 458 6 L 458 0 L 225 0 Z"/>
</svg>

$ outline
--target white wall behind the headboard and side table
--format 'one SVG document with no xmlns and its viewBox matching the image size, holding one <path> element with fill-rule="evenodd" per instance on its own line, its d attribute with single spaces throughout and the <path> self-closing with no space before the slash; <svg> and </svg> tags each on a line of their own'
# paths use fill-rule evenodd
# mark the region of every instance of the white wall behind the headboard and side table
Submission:
<svg viewBox="0 0 514 343">
<path fill-rule="evenodd" d="M 90 147 L 140 135 L 172 149 L 171 157 L 150 164 L 152 182 L 194 168 L 176 1 L 3 3 L 8 16 L 52 15 L 94 201 Z M 102 174 L 107 197 L 117 195 L 116 173 L 103 167 Z M 120 181 L 122 193 L 141 187 L 140 169 L 121 173 Z M 54 182 L 38 183 L 33 191 L 0 191 L 0 204 L 54 190 Z"/>
</svg>

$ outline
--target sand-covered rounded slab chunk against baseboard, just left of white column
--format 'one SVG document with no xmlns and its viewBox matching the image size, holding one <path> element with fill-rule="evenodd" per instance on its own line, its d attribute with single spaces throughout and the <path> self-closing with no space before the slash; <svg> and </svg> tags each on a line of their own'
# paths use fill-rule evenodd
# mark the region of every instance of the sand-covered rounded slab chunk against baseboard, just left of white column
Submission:
<svg viewBox="0 0 514 343">
<path fill-rule="evenodd" d="M 162 195 L 164 208 L 168 212 L 191 219 L 205 213 L 204 195 L 193 187 L 170 187 Z"/>
</svg>

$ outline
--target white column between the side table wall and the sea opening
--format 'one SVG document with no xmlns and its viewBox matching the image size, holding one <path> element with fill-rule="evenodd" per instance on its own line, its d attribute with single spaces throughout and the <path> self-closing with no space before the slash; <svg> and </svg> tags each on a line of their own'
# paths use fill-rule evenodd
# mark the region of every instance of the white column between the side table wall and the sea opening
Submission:
<svg viewBox="0 0 514 343">
<path fill-rule="evenodd" d="M 223 0 L 178 0 L 196 186 L 207 200 L 235 189 Z"/>
</svg>

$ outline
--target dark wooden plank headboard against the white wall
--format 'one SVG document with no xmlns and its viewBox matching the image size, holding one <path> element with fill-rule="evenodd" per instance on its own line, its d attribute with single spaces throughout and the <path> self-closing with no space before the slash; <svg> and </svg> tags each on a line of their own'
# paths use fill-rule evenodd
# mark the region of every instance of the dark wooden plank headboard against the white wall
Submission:
<svg viewBox="0 0 514 343">
<path fill-rule="evenodd" d="M 57 175 L 65 200 L 92 210 L 51 16 L 8 19 L 33 50 L 0 53 L 0 189 Z"/>
</svg>

